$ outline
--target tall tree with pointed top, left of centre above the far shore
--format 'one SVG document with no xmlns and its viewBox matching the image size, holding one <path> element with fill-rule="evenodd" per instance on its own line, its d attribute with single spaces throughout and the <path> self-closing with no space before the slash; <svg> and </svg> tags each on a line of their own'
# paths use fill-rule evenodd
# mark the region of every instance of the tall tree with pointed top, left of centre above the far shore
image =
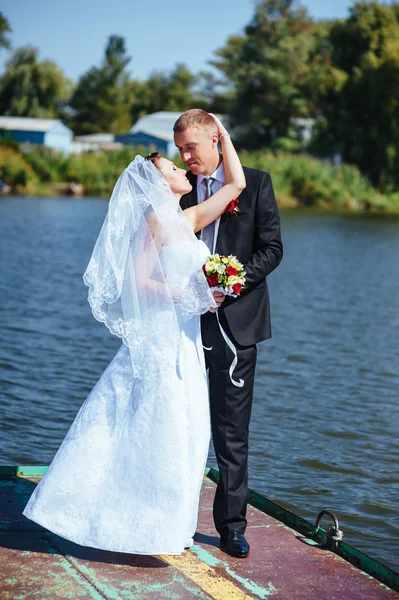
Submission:
<svg viewBox="0 0 399 600">
<path fill-rule="evenodd" d="M 70 100 L 70 123 L 75 133 L 124 133 L 129 129 L 132 103 L 126 72 L 129 62 L 124 39 L 111 36 L 102 65 L 82 75 Z"/>
</svg>

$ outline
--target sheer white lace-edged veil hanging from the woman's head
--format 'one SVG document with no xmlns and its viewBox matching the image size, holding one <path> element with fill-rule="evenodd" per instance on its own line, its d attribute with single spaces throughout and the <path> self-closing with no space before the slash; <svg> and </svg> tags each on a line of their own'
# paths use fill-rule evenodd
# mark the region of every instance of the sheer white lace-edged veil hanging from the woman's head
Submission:
<svg viewBox="0 0 399 600">
<path fill-rule="evenodd" d="M 119 177 L 83 280 L 94 317 L 128 346 L 139 379 L 159 373 L 160 348 L 177 365 L 181 324 L 216 306 L 198 240 L 151 161 L 136 156 Z"/>
</svg>

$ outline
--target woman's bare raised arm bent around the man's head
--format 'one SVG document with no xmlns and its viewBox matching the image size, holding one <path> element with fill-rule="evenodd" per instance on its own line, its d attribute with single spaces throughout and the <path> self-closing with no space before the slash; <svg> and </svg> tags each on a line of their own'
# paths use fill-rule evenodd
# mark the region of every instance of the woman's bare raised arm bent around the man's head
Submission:
<svg viewBox="0 0 399 600">
<path fill-rule="evenodd" d="M 222 145 L 226 183 L 208 200 L 201 202 L 197 206 L 187 208 L 184 211 L 184 215 L 194 231 L 200 231 L 220 217 L 226 210 L 227 205 L 241 194 L 246 185 L 244 171 L 230 135 L 221 121 L 215 115 L 212 116 L 216 121 Z"/>
</svg>

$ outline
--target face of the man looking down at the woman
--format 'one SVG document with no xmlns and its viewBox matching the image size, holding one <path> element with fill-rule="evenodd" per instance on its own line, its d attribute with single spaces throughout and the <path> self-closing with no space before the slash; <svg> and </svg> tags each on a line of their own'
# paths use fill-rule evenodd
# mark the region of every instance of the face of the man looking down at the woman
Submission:
<svg viewBox="0 0 399 600">
<path fill-rule="evenodd" d="M 194 175 L 211 175 L 219 164 L 218 135 L 207 127 L 176 131 L 175 144 Z"/>
</svg>

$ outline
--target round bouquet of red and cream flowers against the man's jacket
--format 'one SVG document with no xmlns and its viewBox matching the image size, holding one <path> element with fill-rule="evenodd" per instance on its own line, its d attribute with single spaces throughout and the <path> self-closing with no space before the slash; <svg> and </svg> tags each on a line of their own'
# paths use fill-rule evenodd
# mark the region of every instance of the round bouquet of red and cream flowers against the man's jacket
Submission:
<svg viewBox="0 0 399 600">
<path fill-rule="evenodd" d="M 245 271 L 235 256 L 212 254 L 202 267 L 212 291 L 220 291 L 234 298 L 245 290 Z"/>
</svg>

